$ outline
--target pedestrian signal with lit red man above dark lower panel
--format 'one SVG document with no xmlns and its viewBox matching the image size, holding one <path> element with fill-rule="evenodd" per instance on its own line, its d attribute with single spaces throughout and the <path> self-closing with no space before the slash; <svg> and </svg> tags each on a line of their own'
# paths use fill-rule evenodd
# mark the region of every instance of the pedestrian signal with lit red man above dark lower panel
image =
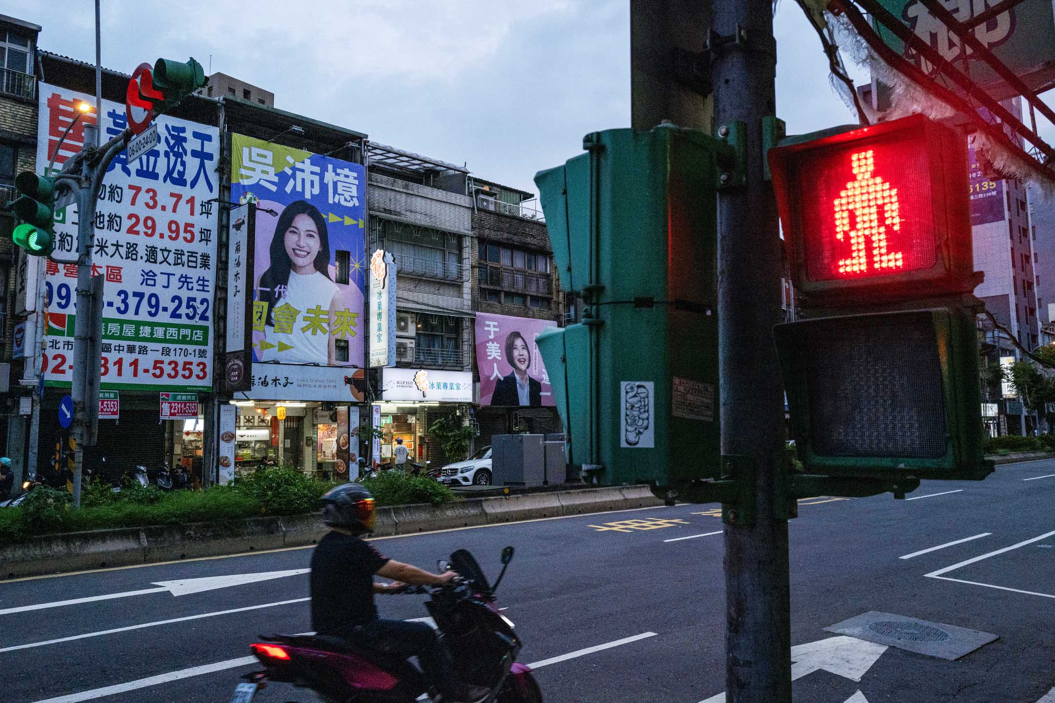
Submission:
<svg viewBox="0 0 1055 703">
<path fill-rule="evenodd" d="M 798 321 L 774 330 L 810 473 L 982 479 L 966 138 L 922 116 L 769 153 Z"/>
</svg>

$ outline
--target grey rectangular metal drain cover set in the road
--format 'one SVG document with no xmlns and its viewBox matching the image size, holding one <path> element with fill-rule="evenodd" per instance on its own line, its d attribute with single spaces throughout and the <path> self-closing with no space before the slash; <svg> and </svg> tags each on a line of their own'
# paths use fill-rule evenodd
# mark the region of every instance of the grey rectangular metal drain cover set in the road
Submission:
<svg viewBox="0 0 1055 703">
<path fill-rule="evenodd" d="M 990 632 L 876 610 L 869 610 L 824 629 L 951 661 L 997 639 L 996 634 Z"/>
</svg>

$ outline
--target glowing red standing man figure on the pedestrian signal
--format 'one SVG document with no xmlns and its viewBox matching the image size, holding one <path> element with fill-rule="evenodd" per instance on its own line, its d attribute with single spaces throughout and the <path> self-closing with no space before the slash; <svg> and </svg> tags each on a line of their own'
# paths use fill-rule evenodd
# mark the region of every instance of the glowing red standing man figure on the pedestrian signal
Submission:
<svg viewBox="0 0 1055 703">
<path fill-rule="evenodd" d="M 850 239 L 850 255 L 839 259 L 839 273 L 864 273 L 868 271 L 869 258 L 877 271 L 900 269 L 904 266 L 901 252 L 890 252 L 887 247 L 887 234 L 901 230 L 898 189 L 872 175 L 875 162 L 870 149 L 852 154 L 850 164 L 856 178 L 846 183 L 833 202 L 836 238 L 843 241 L 848 234 Z M 853 213 L 852 226 L 850 213 Z"/>
</svg>

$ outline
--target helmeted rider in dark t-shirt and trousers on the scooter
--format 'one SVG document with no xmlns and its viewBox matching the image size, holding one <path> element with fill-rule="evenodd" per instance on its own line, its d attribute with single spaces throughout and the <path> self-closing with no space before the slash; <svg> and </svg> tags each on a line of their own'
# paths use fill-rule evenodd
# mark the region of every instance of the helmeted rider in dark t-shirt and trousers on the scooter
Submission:
<svg viewBox="0 0 1055 703">
<path fill-rule="evenodd" d="M 458 574 L 429 573 L 382 555 L 362 535 L 373 529 L 373 497 L 362 484 L 344 484 L 322 496 L 323 522 L 331 530 L 311 555 L 311 623 L 319 634 L 337 636 L 380 651 L 417 657 L 426 683 L 443 701 L 473 703 L 488 688 L 459 682 L 450 652 L 425 623 L 382 620 L 375 593 L 395 594 L 405 584 L 442 586 Z M 394 583 L 373 582 L 377 574 Z"/>
</svg>

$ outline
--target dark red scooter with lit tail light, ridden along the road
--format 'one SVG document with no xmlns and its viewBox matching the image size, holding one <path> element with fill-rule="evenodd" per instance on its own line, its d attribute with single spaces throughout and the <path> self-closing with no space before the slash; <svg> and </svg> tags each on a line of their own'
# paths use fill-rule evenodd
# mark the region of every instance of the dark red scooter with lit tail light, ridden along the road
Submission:
<svg viewBox="0 0 1055 703">
<path fill-rule="evenodd" d="M 502 550 L 502 571 L 494 586 L 487 584 L 473 555 L 459 549 L 450 563 L 441 565 L 459 573 L 446 586 L 411 586 L 406 593 L 427 593 L 425 602 L 443 642 L 453 655 L 465 683 L 491 688 L 486 703 L 541 703 L 542 692 L 531 669 L 516 663 L 523 646 L 513 623 L 498 610 L 495 590 L 513 560 L 513 547 Z M 250 646 L 264 664 L 263 671 L 243 677 L 231 703 L 251 703 L 268 682 L 310 688 L 326 703 L 414 703 L 428 691 L 421 672 L 405 659 L 373 651 L 342 638 L 272 634 Z M 431 700 L 431 699 L 429 699 Z"/>
</svg>

